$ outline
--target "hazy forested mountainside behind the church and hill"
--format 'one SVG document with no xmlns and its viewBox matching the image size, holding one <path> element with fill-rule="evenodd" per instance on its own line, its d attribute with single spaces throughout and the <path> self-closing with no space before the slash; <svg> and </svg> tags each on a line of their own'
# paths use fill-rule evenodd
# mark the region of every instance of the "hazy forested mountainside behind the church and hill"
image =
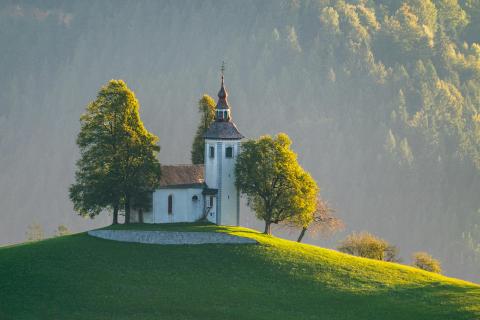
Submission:
<svg viewBox="0 0 480 320">
<path fill-rule="evenodd" d="M 160 161 L 186 163 L 225 60 L 239 129 L 288 133 L 345 232 L 478 280 L 480 0 L 4 1 L 0 41 L 0 242 L 91 225 L 68 185 L 101 85 L 124 79 Z"/>
</svg>

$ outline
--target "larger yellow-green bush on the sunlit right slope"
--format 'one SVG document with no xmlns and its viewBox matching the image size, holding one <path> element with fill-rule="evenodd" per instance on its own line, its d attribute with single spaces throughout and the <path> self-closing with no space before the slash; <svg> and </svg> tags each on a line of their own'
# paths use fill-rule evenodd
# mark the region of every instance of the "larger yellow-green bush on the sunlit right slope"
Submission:
<svg viewBox="0 0 480 320">
<path fill-rule="evenodd" d="M 376 260 L 385 260 L 386 257 L 388 257 L 388 261 L 397 259 L 395 247 L 390 246 L 387 241 L 368 232 L 352 233 L 342 241 L 338 250 L 354 256 Z"/>
</svg>

